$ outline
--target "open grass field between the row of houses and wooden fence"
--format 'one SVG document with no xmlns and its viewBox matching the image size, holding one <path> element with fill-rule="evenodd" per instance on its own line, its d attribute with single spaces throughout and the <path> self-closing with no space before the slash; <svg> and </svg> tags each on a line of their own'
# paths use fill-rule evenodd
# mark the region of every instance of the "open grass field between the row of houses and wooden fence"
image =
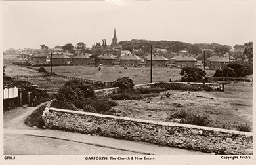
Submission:
<svg viewBox="0 0 256 165">
<path fill-rule="evenodd" d="M 51 67 L 45 67 L 45 69 L 51 71 Z M 150 68 L 148 67 L 129 67 L 128 70 L 123 67 L 102 67 L 102 69 L 98 71 L 98 67 L 58 66 L 53 67 L 53 72 L 70 77 L 79 77 L 96 81 L 113 82 L 119 77 L 131 77 L 135 84 L 145 84 L 150 82 Z M 169 82 L 170 79 L 172 81 L 180 80 L 180 72 L 181 69 L 153 68 L 152 82 Z M 212 76 L 214 73 L 215 71 L 207 71 L 208 76 Z"/>
</svg>

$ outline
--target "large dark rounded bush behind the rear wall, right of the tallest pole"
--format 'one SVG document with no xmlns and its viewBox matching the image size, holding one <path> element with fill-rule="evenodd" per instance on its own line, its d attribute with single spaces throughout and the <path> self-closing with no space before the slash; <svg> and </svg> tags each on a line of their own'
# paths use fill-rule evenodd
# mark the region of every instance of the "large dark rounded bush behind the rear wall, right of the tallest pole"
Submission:
<svg viewBox="0 0 256 165">
<path fill-rule="evenodd" d="M 182 82 L 207 82 L 206 72 L 196 67 L 183 67 L 180 75 Z"/>
</svg>

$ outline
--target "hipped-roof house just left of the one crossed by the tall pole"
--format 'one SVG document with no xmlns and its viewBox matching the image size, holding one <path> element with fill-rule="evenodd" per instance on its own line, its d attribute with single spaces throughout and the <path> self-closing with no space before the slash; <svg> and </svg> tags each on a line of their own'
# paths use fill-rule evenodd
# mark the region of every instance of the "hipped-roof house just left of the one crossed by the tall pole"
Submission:
<svg viewBox="0 0 256 165">
<path fill-rule="evenodd" d="M 134 67 L 141 63 L 141 58 L 135 54 L 127 54 L 120 57 L 120 65 Z"/>
</svg>

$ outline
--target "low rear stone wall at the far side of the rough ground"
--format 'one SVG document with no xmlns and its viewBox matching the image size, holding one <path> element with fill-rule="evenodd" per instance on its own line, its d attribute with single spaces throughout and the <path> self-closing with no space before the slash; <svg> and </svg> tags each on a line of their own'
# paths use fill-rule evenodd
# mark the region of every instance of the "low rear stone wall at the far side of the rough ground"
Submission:
<svg viewBox="0 0 256 165">
<path fill-rule="evenodd" d="M 148 83 L 148 84 L 137 84 L 134 86 L 135 89 L 137 88 L 150 88 L 150 86 L 157 84 L 160 82 Z M 187 85 L 207 85 L 210 86 L 213 90 L 223 90 L 222 84 L 217 83 L 198 83 L 198 82 L 164 82 L 164 83 L 175 83 L 175 84 L 187 84 Z M 116 88 L 107 88 L 102 90 L 95 90 L 96 96 L 110 96 L 114 93 L 117 93 L 118 87 Z"/>
</svg>

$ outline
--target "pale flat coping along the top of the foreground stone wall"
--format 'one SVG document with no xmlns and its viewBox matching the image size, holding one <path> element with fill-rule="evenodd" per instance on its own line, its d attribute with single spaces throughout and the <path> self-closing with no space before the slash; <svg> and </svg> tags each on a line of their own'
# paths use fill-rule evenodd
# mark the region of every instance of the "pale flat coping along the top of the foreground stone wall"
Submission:
<svg viewBox="0 0 256 165">
<path fill-rule="evenodd" d="M 49 111 L 58 111 L 58 112 L 66 112 L 66 113 L 74 113 L 79 115 L 90 115 L 95 117 L 102 117 L 102 118 L 111 118 L 111 119 L 119 119 L 119 120 L 127 120 L 127 121 L 133 121 L 133 122 L 141 122 L 141 123 L 149 123 L 149 124 L 157 124 L 161 126 L 177 126 L 177 127 L 183 127 L 183 128 L 194 128 L 198 130 L 209 130 L 214 132 L 223 132 L 228 134 L 240 134 L 244 136 L 253 136 L 252 132 L 240 132 L 236 130 L 226 130 L 221 128 L 213 128 L 213 127 L 205 127 L 205 126 L 196 126 L 196 125 L 190 125 L 190 124 L 180 124 L 180 123 L 172 123 L 172 122 L 161 122 L 161 121 L 152 121 L 152 120 L 143 120 L 143 119 L 135 119 L 130 117 L 117 117 L 114 115 L 104 115 L 99 113 L 90 113 L 90 112 L 83 112 L 83 111 L 72 111 L 68 109 L 58 109 L 54 107 L 50 107 Z"/>
</svg>

